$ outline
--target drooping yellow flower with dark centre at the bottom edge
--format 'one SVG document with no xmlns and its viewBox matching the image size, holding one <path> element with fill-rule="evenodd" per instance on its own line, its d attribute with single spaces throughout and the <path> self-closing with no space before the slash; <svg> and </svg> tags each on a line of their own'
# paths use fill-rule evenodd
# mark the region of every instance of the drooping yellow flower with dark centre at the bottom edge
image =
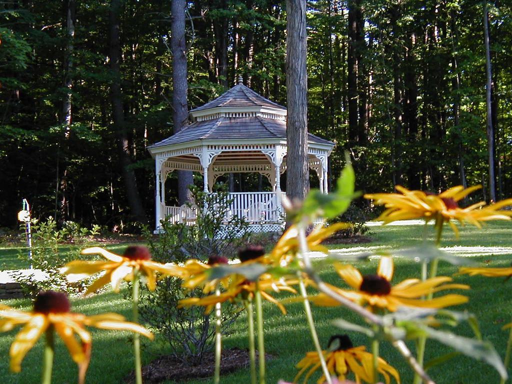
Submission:
<svg viewBox="0 0 512 384">
<path fill-rule="evenodd" d="M 334 344 L 336 346 L 333 347 Z M 339 380 L 346 380 L 347 376 L 352 372 L 358 383 L 375 382 L 373 377 L 373 355 L 367 352 L 364 346 L 353 347 L 347 335 L 331 337 L 329 340 L 329 350 L 323 351 L 323 353 L 329 372 L 337 376 Z M 297 382 L 302 374 L 308 371 L 304 377 L 304 383 L 307 383 L 311 375 L 321 367 L 318 353 L 316 351 L 307 352 L 306 357 L 299 361 L 296 367 L 300 369 L 300 372 L 295 376 L 293 382 Z M 391 381 L 390 375 L 400 384 L 400 375 L 397 370 L 380 357 L 377 362 L 377 371 L 384 376 L 386 384 L 389 384 Z M 318 384 L 323 382 L 325 382 L 324 375 L 317 380 Z"/>
</svg>

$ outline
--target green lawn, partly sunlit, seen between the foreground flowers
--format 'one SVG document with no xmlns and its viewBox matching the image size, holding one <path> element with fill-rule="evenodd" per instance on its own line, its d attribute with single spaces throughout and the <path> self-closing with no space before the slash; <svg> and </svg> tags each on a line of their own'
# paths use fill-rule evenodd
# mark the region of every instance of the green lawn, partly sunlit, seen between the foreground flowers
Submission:
<svg viewBox="0 0 512 384">
<path fill-rule="evenodd" d="M 372 227 L 370 236 L 374 242 L 363 244 L 370 247 L 408 247 L 417 245 L 422 241 L 423 226 L 385 226 Z M 429 236 L 433 234 L 433 228 L 428 228 Z M 465 227 L 461 230 L 459 240 L 456 240 L 451 230 L 446 229 L 442 246 L 464 246 L 464 247 L 510 247 L 501 250 L 499 254 L 492 254 L 495 248 L 488 248 L 487 253 L 481 256 L 472 257 L 477 265 L 488 265 L 492 267 L 510 266 L 512 257 L 512 224 L 492 223 L 484 229 Z M 122 247 L 109 247 L 114 251 L 120 251 Z M 330 248 L 354 248 L 361 245 L 330 245 Z M 477 251 L 480 248 L 477 249 Z M 0 255 L 4 256 L 5 250 L 0 249 Z M 315 262 L 317 266 L 321 263 Z M 406 259 L 396 259 L 395 278 L 398 282 L 405 278 L 417 277 L 420 268 L 417 263 Z M 375 273 L 376 260 L 357 262 L 355 266 L 365 273 Z M 326 282 L 339 285 L 337 274 L 330 267 L 321 266 L 321 276 Z M 440 262 L 439 274 L 451 275 L 456 268 Z M 503 282 L 503 279 L 483 278 L 474 276 L 456 276 L 458 283 L 470 284 L 472 289 L 465 292 L 470 297 L 470 302 L 454 309 L 467 310 L 477 315 L 484 339 L 492 342 L 498 352 L 503 356 L 508 333 L 502 331 L 501 327 L 510 321 L 509 313 L 512 309 L 510 302 L 510 284 L 512 280 Z M 278 295 L 286 297 L 286 295 Z M 28 309 L 27 301 L 15 301 L 6 303 L 16 307 L 24 306 Z M 291 381 L 297 370 L 294 365 L 307 351 L 313 350 L 307 323 L 300 303 L 287 306 L 288 314 L 283 316 L 272 304 L 264 303 L 265 310 L 265 347 L 266 352 L 274 358 L 267 364 L 267 382 L 275 383 L 279 379 Z M 115 311 L 127 317 L 130 316 L 130 302 L 124 300 L 122 295 L 112 292 L 96 295 L 91 298 L 77 298 L 73 300 L 73 310 L 86 314 Z M 360 320 L 344 308 L 320 308 L 313 307 L 313 314 L 317 325 L 317 331 L 321 342 L 325 345 L 332 334 L 342 333 L 331 325 L 331 321 L 337 317 L 343 317 L 348 321 L 359 323 Z M 455 330 L 458 334 L 471 336 L 470 327 L 463 324 Z M 91 367 L 88 372 L 89 383 L 117 383 L 121 382 L 132 370 L 132 348 L 130 336 L 124 332 L 93 331 L 93 355 Z M 40 361 L 42 357 L 42 343 L 27 355 L 23 364 L 23 371 L 19 374 L 8 372 L 7 351 L 12 342 L 15 332 L 9 332 L 0 336 L 0 377 L 2 383 L 28 383 L 38 382 L 40 374 Z M 354 345 L 369 345 L 368 339 L 359 334 L 351 335 Z M 224 347 L 247 348 L 246 318 L 245 315 L 237 320 L 230 335 L 224 338 Z M 411 346 L 413 348 L 413 346 Z M 381 355 L 387 359 L 400 372 L 402 383 L 412 382 L 410 368 L 402 361 L 401 357 L 388 344 L 383 343 L 380 348 Z M 437 342 L 429 342 L 426 360 L 442 355 L 450 350 Z M 143 360 L 149 361 L 156 355 L 165 353 L 164 347 L 155 343 L 146 343 L 143 353 Z M 61 342 L 57 344 L 57 358 L 54 365 L 54 382 L 75 382 L 77 373 L 76 365 L 72 362 Z M 433 368 L 429 372 L 432 378 L 441 383 L 487 383 L 499 382 L 498 374 L 493 368 L 463 356 L 456 357 L 449 362 Z M 223 383 L 244 383 L 249 381 L 248 370 L 240 370 L 222 377 Z M 317 376 L 312 377 L 310 382 L 316 382 Z M 199 384 L 209 380 L 190 380 L 187 384 Z M 167 384 L 172 383 L 168 381 Z"/>
</svg>

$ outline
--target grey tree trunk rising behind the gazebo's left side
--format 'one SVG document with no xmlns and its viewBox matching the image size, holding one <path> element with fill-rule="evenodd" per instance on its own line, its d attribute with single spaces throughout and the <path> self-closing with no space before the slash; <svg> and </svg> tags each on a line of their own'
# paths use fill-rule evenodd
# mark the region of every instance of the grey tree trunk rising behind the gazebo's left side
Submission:
<svg viewBox="0 0 512 384">
<path fill-rule="evenodd" d="M 188 81 L 187 57 L 185 44 L 185 0 L 172 0 L 170 12 L 170 49 L 173 54 L 173 122 L 174 133 L 180 132 L 188 121 Z M 165 180 L 162 180 L 164 183 Z M 192 173 L 186 170 L 178 171 L 178 200 L 182 205 L 189 198 L 188 186 L 194 184 Z"/>
</svg>

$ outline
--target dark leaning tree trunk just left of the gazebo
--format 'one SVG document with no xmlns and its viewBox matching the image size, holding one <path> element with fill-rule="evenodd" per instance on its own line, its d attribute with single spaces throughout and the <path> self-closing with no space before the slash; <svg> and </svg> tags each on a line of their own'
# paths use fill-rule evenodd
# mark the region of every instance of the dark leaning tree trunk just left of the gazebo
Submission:
<svg viewBox="0 0 512 384">
<path fill-rule="evenodd" d="M 123 101 L 121 93 L 121 73 L 119 64 L 121 59 L 121 48 L 119 42 L 119 12 L 121 4 L 120 0 L 111 0 L 109 12 L 110 24 L 110 47 L 109 59 L 110 69 L 112 71 L 112 83 L 110 87 L 110 96 L 112 102 L 112 119 L 114 120 L 114 130 L 119 148 L 119 156 L 121 160 L 121 168 L 124 178 L 124 186 L 126 189 L 126 197 L 132 210 L 135 220 L 146 223 L 146 215 L 142 208 L 139 191 L 137 190 L 137 180 L 135 173 L 131 168 L 132 160 L 130 158 L 130 147 L 126 135 L 126 127 L 124 125 Z"/>
</svg>

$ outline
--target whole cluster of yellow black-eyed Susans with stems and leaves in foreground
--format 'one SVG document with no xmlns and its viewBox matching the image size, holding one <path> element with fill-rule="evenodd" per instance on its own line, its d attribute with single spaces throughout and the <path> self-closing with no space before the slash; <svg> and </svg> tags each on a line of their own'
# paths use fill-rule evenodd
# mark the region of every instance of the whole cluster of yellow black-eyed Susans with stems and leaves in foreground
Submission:
<svg viewBox="0 0 512 384">
<path fill-rule="evenodd" d="M 69 312 L 67 298 L 50 300 L 51 303 L 55 303 L 49 302 L 50 304 L 42 305 L 39 302 L 45 297 L 44 294 L 37 299 L 39 302 L 36 300 L 33 313 L 2 307 L 0 316 L 4 319 L 0 321 L 0 330 L 7 331 L 16 325 L 27 324 L 11 347 L 11 368 L 14 371 L 20 369 L 23 356 L 33 346 L 35 340 L 46 332 L 45 351 L 47 352 L 45 352 L 42 380 L 45 383 L 50 382 L 51 363 L 48 361 L 52 354 L 51 346 L 53 330 L 55 330 L 64 340 L 79 367 L 85 367 L 82 368 L 81 380 L 83 380 L 87 369 L 88 346 L 91 343 L 85 327 L 129 329 L 136 335 L 134 337 L 136 381 L 142 382 L 138 334 L 146 336 L 150 334 L 135 324 L 138 319 L 139 281 L 145 282 L 152 290 L 160 276 L 174 276 L 175 279 L 180 279 L 187 289 L 202 288 L 205 293 L 202 297 L 184 298 L 180 306 L 201 306 L 206 312 L 214 311 L 216 368 L 213 380 L 215 383 L 221 381 L 221 322 L 223 306 L 227 305 L 237 305 L 241 310 L 246 311 L 250 357 L 248 377 L 251 384 L 266 382 L 263 299 L 278 306 L 282 313 L 286 313 L 287 303 L 293 301 L 299 301 L 304 306 L 312 351 L 306 353 L 300 361 L 296 361 L 298 373 L 294 381 L 307 382 L 314 377 L 317 383 L 327 382 L 328 384 L 344 380 L 400 383 L 400 372 L 393 367 L 394 362 L 385 359 L 386 356 L 380 356 L 379 353 L 380 345 L 389 343 L 414 372 L 414 383 L 434 383 L 435 381 L 430 377 L 431 372 L 435 372 L 433 367 L 438 364 L 450 364 L 450 358 L 457 354 L 486 362 L 496 369 L 501 382 L 505 382 L 512 345 L 512 324 L 504 327 L 510 328 L 511 333 L 503 362 L 493 345 L 482 339 L 475 316 L 465 311 L 451 309 L 453 306 L 460 308 L 460 305 L 467 302 L 468 298 L 464 292 L 468 292 L 470 287 L 457 283 L 457 276 L 439 276 L 437 271 L 439 260 L 444 260 L 461 266 L 457 275 L 510 276 L 512 268 L 487 269 L 465 266 L 466 259 L 446 254 L 439 249 L 439 246 L 446 225 L 458 233 L 456 222 L 480 227 L 482 222 L 488 220 L 510 220 L 512 211 L 503 208 L 512 205 L 512 199 L 488 206 L 484 202 L 479 202 L 465 208 L 460 207 L 459 202 L 478 186 L 466 189 L 456 186 L 440 194 L 398 187 L 398 193 L 366 195 L 365 198 L 371 199 L 373 204 L 385 206 L 386 210 L 380 217 L 385 224 L 402 219 L 421 219 L 425 224 L 434 221 L 435 236 L 433 241 L 425 238 L 421 246 L 415 248 L 361 254 L 357 259 L 379 258 L 375 274 L 362 274 L 351 265 L 353 257 L 348 259 L 328 254 L 327 248 L 321 244 L 336 230 L 346 229 L 348 224 L 336 223 L 331 226 L 321 224 L 314 227 L 308 234 L 312 223 L 319 217 L 329 220 L 346 211 L 352 199 L 358 195 L 354 190 L 354 184 L 354 171 L 347 159 L 347 165 L 333 193 L 322 194 L 318 190 L 311 190 L 301 203 L 292 203 L 284 198 L 283 206 L 290 223 L 288 229 L 273 249 L 267 253 L 258 244 L 240 249 L 238 251 L 240 263 L 228 263 L 228 260 L 233 258 L 231 254 L 211 255 L 207 261 L 191 259 L 176 265 L 151 261 L 151 254 L 144 247 L 128 248 L 123 255 L 97 247 L 84 250 L 86 254 L 101 254 L 106 261 L 72 262 L 65 267 L 65 273 L 83 277 L 99 273 L 95 282 L 89 287 L 88 293 L 109 283 L 114 289 L 118 289 L 122 280 L 130 282 L 134 323 L 125 323 L 123 318 L 114 314 L 103 315 L 103 317 L 102 315 L 87 317 L 72 314 Z M 428 232 L 425 231 L 425 233 Z M 340 279 L 336 284 L 327 284 L 322 281 L 315 265 L 311 262 L 310 250 L 326 253 L 323 266 L 325 267 L 327 263 L 339 275 Z M 419 262 L 417 275 L 420 278 L 408 276 L 402 281 L 394 282 L 394 257 L 407 257 Z M 447 290 L 455 293 L 443 292 Z M 280 301 L 272 294 L 280 291 L 289 292 L 292 297 Z M 58 293 L 47 295 L 60 297 Z M 313 317 L 315 306 L 329 307 L 332 311 L 337 311 L 340 306 L 343 306 L 354 312 L 359 321 L 353 323 L 345 318 L 337 318 L 332 322 L 332 337 L 328 345 L 323 347 L 315 328 Z M 474 332 L 473 338 L 453 333 L 453 325 L 461 322 L 467 322 L 470 325 Z M 354 346 L 350 336 L 355 333 L 366 335 L 369 346 Z M 454 352 L 438 356 L 425 363 L 425 349 L 429 346 L 427 343 L 429 338 L 453 348 Z M 406 342 L 409 343 L 406 344 Z M 258 350 L 258 364 L 256 350 Z"/>
</svg>

